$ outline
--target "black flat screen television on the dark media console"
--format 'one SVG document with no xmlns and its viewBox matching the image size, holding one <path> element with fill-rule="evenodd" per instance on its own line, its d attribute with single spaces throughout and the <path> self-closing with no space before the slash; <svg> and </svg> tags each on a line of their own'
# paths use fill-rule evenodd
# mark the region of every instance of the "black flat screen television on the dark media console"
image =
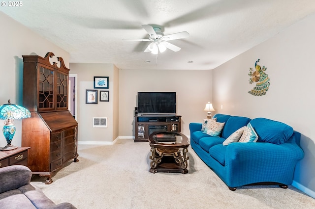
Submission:
<svg viewBox="0 0 315 209">
<path fill-rule="evenodd" d="M 176 114 L 176 92 L 138 92 L 138 114 Z"/>
</svg>

